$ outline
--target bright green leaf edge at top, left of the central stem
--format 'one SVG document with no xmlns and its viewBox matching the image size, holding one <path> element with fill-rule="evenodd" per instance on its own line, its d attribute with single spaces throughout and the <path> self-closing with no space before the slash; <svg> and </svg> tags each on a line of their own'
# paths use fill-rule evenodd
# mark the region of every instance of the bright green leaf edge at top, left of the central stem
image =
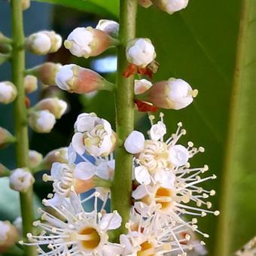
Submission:
<svg viewBox="0 0 256 256">
<path fill-rule="evenodd" d="M 119 14 L 119 1 L 117 0 L 34 0 L 62 5 L 79 11 L 87 11 L 102 16 L 117 18 Z"/>
</svg>

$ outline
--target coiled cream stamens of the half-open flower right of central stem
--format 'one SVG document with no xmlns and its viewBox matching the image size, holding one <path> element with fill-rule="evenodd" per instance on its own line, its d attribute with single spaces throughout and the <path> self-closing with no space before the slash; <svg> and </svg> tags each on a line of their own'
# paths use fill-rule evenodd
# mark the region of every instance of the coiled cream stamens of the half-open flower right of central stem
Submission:
<svg viewBox="0 0 256 256">
<path fill-rule="evenodd" d="M 169 151 L 166 143 L 145 141 L 145 149 L 139 154 L 139 160 L 149 171 L 166 168 L 169 165 Z"/>
</svg>

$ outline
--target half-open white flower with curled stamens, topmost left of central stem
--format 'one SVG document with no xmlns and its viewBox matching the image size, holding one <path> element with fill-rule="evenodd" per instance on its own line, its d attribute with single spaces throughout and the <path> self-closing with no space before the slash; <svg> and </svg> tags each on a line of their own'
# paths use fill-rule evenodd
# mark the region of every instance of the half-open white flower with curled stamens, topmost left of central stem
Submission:
<svg viewBox="0 0 256 256">
<path fill-rule="evenodd" d="M 116 144 L 116 135 L 107 120 L 95 114 L 80 114 L 75 122 L 72 147 L 78 154 L 86 151 L 93 157 L 108 156 Z"/>
</svg>

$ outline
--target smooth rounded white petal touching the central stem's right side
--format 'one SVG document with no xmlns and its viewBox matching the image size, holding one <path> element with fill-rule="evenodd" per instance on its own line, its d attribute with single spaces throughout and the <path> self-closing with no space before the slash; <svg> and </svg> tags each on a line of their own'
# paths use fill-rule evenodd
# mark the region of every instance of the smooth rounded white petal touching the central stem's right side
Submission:
<svg viewBox="0 0 256 256">
<path fill-rule="evenodd" d="M 142 152 L 145 148 L 144 135 L 138 131 L 133 131 L 126 138 L 126 141 L 124 142 L 124 148 L 130 154 L 138 154 Z"/>
</svg>

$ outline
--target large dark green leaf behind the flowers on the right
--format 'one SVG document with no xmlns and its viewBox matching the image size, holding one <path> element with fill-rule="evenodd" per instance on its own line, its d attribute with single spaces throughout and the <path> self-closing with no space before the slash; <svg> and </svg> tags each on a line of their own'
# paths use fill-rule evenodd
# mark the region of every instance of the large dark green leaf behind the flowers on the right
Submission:
<svg viewBox="0 0 256 256">
<path fill-rule="evenodd" d="M 187 141 L 206 148 L 203 155 L 195 157 L 194 166 L 207 163 L 209 173 L 218 175 L 217 180 L 207 181 L 204 186 L 217 191 L 212 208 L 221 207 L 223 212 L 220 217 L 208 215 L 199 220 L 201 230 L 210 234 L 210 239 L 205 242 L 211 255 L 219 241 L 225 241 L 226 249 L 216 251 L 216 256 L 232 254 L 254 236 L 256 226 L 253 217 L 256 212 L 256 160 L 253 157 L 256 154 L 253 98 L 256 95 L 256 69 L 252 48 L 256 38 L 246 44 L 251 51 L 245 53 L 246 63 L 243 64 L 249 66 L 247 70 L 250 72 L 241 75 L 241 88 L 235 98 L 236 112 L 232 112 L 236 122 L 228 130 L 229 113 L 234 105 L 231 92 L 235 86 L 233 74 L 241 3 L 253 1 L 197 0 L 190 1 L 184 11 L 173 15 L 154 7 L 140 8 L 138 15 L 137 35 L 151 38 L 160 62 L 154 80 L 183 78 L 199 90 L 188 108 L 164 112 L 169 133 L 175 130 L 175 123 L 182 121 L 187 130 Z M 255 12 L 256 6 L 251 4 L 251 9 Z M 255 36 L 255 17 L 251 14 L 250 19 L 249 35 Z M 249 26 L 248 23 L 245 26 Z M 233 136 L 228 141 L 230 129 Z M 230 157 L 224 157 L 229 151 Z M 224 198 L 224 204 L 220 205 L 221 198 Z"/>
</svg>

